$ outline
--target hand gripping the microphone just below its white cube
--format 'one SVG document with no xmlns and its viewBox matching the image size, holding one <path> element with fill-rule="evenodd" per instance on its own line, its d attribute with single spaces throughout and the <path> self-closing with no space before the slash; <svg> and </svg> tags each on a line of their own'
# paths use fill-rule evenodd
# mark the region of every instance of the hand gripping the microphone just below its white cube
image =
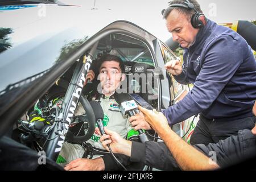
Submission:
<svg viewBox="0 0 256 182">
<path fill-rule="evenodd" d="M 138 113 L 129 118 L 129 122 L 134 130 L 144 129 L 151 130 L 150 125 L 145 121 L 144 115 L 142 113 Z"/>
</svg>

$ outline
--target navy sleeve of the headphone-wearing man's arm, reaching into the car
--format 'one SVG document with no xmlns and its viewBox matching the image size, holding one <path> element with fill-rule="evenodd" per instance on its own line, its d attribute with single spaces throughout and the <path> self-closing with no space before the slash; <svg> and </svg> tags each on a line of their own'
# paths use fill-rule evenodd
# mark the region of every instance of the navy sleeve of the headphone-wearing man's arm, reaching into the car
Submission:
<svg viewBox="0 0 256 182">
<path fill-rule="evenodd" d="M 205 59 L 193 89 L 183 100 L 163 110 L 170 125 L 208 109 L 243 61 L 241 45 L 228 35 L 213 40 L 204 52 Z"/>
</svg>

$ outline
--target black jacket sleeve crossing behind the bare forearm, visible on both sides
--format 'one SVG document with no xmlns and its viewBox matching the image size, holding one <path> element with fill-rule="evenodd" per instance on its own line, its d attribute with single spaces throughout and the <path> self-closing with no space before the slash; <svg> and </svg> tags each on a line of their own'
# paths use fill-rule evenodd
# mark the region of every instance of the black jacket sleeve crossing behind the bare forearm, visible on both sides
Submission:
<svg viewBox="0 0 256 182">
<path fill-rule="evenodd" d="M 242 162 L 256 154 L 256 136 L 251 130 L 240 130 L 234 135 L 220 140 L 218 143 L 196 144 L 193 147 L 211 159 L 216 154 L 216 162 L 220 167 L 226 167 Z M 178 169 L 174 157 L 164 142 L 133 142 L 131 146 L 131 161 L 144 162 L 146 165 L 161 170 Z"/>
</svg>

